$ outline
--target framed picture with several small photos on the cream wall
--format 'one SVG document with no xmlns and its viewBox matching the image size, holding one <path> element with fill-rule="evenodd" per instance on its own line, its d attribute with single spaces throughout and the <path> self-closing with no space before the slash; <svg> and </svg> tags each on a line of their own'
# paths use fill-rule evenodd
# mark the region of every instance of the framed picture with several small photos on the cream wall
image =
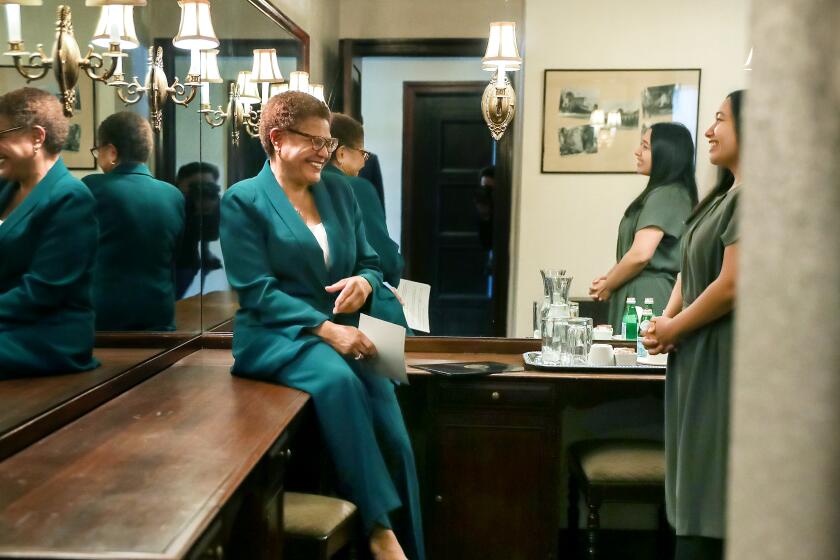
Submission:
<svg viewBox="0 0 840 560">
<path fill-rule="evenodd" d="M 542 172 L 635 173 L 654 123 L 684 124 L 697 145 L 699 103 L 699 68 L 546 70 Z"/>
</svg>

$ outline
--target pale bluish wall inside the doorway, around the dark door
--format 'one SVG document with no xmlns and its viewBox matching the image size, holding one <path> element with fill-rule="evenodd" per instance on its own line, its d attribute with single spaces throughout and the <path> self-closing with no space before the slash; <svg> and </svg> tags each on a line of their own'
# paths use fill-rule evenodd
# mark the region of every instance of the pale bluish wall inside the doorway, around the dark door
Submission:
<svg viewBox="0 0 840 560">
<path fill-rule="evenodd" d="M 397 243 L 402 222 L 403 82 L 486 81 L 479 58 L 369 57 L 362 61 L 365 147 L 379 156 L 388 232 Z"/>
</svg>

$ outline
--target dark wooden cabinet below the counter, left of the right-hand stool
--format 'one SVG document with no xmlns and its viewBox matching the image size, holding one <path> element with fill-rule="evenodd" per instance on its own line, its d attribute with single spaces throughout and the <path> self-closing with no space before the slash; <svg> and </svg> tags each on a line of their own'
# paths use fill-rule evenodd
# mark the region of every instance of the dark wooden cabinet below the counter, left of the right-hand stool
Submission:
<svg viewBox="0 0 840 560">
<path fill-rule="evenodd" d="M 554 389 L 540 382 L 430 383 L 429 558 L 556 557 Z"/>
</svg>

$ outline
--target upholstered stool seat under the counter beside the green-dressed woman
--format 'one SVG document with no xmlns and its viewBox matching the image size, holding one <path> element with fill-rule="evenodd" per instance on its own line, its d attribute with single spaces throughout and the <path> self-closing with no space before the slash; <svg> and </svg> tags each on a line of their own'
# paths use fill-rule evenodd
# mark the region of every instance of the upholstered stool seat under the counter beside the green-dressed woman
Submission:
<svg viewBox="0 0 840 560">
<path fill-rule="evenodd" d="M 585 441 L 572 446 L 571 455 L 589 484 L 665 482 L 665 449 L 660 442 Z"/>
</svg>

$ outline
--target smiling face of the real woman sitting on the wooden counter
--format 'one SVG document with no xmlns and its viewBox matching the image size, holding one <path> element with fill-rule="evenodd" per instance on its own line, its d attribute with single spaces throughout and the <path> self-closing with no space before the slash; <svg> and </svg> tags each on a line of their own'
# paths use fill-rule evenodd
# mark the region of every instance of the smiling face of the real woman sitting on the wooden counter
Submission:
<svg viewBox="0 0 840 560">
<path fill-rule="evenodd" d="M 302 184 L 312 185 L 321 180 L 321 170 L 330 159 L 326 146 L 315 150 L 311 138 L 304 135 L 330 138 L 330 123 L 326 119 L 310 117 L 293 127 L 298 134 L 286 130 L 278 135 L 277 156 L 284 171 Z"/>
</svg>

